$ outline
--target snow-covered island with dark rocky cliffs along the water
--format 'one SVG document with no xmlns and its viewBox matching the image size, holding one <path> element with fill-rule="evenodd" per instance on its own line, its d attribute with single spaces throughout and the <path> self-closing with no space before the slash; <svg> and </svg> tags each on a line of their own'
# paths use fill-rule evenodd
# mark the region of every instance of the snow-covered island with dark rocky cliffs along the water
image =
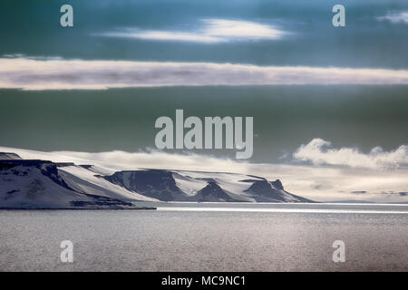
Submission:
<svg viewBox="0 0 408 290">
<path fill-rule="evenodd" d="M 0 153 L 0 208 L 154 209 L 137 201 L 313 202 L 279 179 L 166 169 L 116 170 L 92 164 L 23 160 Z"/>
</svg>

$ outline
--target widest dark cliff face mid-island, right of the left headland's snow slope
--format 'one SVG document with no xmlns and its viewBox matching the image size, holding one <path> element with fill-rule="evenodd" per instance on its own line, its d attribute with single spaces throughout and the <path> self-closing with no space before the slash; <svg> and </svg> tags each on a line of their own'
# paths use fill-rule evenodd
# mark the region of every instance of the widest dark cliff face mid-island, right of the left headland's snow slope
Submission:
<svg viewBox="0 0 408 290">
<path fill-rule="evenodd" d="M 185 200 L 188 197 L 177 187 L 176 180 L 168 170 L 118 171 L 103 178 L 122 188 L 163 201 Z"/>
</svg>

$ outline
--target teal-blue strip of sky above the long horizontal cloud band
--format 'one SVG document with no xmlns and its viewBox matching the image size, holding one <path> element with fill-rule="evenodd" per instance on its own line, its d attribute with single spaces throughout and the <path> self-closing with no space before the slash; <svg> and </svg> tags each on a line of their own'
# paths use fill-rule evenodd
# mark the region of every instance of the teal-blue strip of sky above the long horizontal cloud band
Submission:
<svg viewBox="0 0 408 290">
<path fill-rule="evenodd" d="M 340 2 L 345 5 L 346 26 L 335 28 L 331 10 Z M 403 14 L 408 11 L 406 1 L 340 2 L 2 1 L 0 53 L 81 59 L 407 68 L 407 15 Z M 59 24 L 63 4 L 73 5 L 73 28 Z M 214 34 L 220 33 L 219 27 L 211 23 L 215 20 L 259 26 L 247 37 L 240 30 L 244 37 L 221 34 L 219 42 L 211 42 L 210 37 L 217 38 Z M 273 37 L 266 29 L 283 34 Z M 249 35 L 255 31 L 260 37 L 251 40 Z M 161 35 L 160 41 L 160 35 L 154 37 L 147 32 L 166 33 L 168 37 Z M 197 37 L 180 41 L 180 33 Z M 109 37 L 113 34 L 118 37 Z"/>
</svg>

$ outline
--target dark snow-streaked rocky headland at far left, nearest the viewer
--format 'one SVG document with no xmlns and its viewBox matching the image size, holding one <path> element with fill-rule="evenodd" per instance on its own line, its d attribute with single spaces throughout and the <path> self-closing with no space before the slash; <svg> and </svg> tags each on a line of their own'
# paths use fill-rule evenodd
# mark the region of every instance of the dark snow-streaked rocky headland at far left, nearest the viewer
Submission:
<svg viewBox="0 0 408 290">
<path fill-rule="evenodd" d="M 75 190 L 60 176 L 58 163 L 0 160 L 0 208 L 122 209 L 129 202 Z"/>
</svg>

